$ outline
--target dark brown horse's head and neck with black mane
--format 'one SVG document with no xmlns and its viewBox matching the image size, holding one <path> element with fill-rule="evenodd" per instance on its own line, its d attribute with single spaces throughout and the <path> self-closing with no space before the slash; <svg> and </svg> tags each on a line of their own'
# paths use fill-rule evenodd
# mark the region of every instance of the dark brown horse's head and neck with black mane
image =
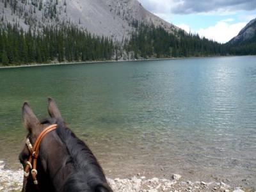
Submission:
<svg viewBox="0 0 256 192">
<path fill-rule="evenodd" d="M 28 103 L 25 102 L 22 108 L 22 120 L 32 146 L 47 127 L 57 125 L 40 143 L 36 159 L 38 184 L 33 182 L 30 173 L 24 176 L 22 191 L 112 191 L 92 151 L 67 128 L 51 98 L 48 99 L 48 111 L 51 118 L 39 122 Z M 19 156 L 24 168 L 29 157 L 31 150 L 25 145 Z"/>
</svg>

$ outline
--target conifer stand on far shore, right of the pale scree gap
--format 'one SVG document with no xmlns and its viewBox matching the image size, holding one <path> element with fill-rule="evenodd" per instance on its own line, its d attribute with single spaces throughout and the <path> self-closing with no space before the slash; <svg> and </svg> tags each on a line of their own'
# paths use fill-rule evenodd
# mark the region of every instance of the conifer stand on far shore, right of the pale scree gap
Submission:
<svg viewBox="0 0 256 192">
<path fill-rule="evenodd" d="M 219 44 L 183 30 L 168 33 L 164 28 L 140 24 L 125 42 L 125 49 L 134 58 L 169 58 L 189 56 L 223 56 L 228 54 L 227 45 Z"/>
</svg>

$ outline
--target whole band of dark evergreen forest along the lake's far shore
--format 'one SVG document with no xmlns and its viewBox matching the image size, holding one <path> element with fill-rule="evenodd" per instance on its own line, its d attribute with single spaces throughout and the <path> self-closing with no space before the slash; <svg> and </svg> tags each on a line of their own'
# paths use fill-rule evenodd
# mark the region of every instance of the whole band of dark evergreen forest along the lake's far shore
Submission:
<svg viewBox="0 0 256 192">
<path fill-rule="evenodd" d="M 76 26 L 48 26 L 24 31 L 18 25 L 0 28 L 0 65 L 148 58 L 183 58 L 256 54 L 256 44 L 219 44 L 183 30 L 136 25 L 131 38 L 113 42 Z"/>
</svg>

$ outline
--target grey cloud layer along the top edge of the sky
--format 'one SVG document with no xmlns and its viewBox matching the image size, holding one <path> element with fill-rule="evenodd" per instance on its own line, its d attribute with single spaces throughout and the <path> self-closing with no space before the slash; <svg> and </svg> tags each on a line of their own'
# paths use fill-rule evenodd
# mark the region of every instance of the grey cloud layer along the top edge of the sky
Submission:
<svg viewBox="0 0 256 192">
<path fill-rule="evenodd" d="M 139 0 L 154 13 L 230 13 L 238 10 L 256 10 L 255 0 Z"/>
</svg>

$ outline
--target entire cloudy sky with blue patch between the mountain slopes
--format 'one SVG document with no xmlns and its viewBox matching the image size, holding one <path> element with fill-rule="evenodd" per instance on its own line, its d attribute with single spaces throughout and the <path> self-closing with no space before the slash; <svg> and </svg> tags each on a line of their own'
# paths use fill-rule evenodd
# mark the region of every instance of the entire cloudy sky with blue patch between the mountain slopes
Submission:
<svg viewBox="0 0 256 192">
<path fill-rule="evenodd" d="M 256 18 L 256 0 L 138 0 L 150 12 L 189 33 L 228 42 Z"/>
</svg>

